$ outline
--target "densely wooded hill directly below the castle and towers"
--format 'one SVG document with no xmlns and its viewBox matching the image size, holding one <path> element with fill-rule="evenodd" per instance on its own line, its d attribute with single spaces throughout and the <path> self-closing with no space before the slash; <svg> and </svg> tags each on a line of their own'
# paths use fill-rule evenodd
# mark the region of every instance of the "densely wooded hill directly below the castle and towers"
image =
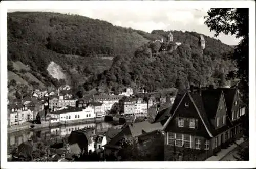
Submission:
<svg viewBox="0 0 256 169">
<path fill-rule="evenodd" d="M 146 90 L 155 91 L 197 85 L 198 81 L 203 86 L 225 86 L 226 74 L 235 69 L 228 58 L 232 47 L 219 40 L 204 36 L 206 47 L 201 50 L 198 33 L 173 31 L 174 41 L 170 43 L 166 42 L 167 32 L 155 30 L 152 33 L 165 37 L 164 43 L 145 43 L 135 51 L 132 59 L 115 58 L 109 70 L 100 74 L 97 80 L 89 80 L 84 88 L 90 90 L 106 83 L 113 91 L 124 86 L 145 86 Z"/>
</svg>

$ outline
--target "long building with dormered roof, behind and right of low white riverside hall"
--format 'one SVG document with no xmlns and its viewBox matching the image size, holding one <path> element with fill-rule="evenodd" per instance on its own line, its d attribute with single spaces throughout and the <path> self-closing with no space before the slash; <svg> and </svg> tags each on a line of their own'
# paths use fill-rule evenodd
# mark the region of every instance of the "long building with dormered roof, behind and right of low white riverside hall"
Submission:
<svg viewBox="0 0 256 169">
<path fill-rule="evenodd" d="M 110 110 L 111 107 L 118 103 L 125 95 L 95 95 L 93 96 L 94 102 L 101 102 L 106 104 L 106 110 Z"/>
</svg>

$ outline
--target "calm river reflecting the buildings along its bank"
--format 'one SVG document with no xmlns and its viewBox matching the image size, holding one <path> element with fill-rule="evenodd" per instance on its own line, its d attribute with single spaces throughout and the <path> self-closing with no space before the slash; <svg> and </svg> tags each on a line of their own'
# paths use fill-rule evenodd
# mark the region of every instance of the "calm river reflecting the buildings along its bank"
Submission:
<svg viewBox="0 0 256 169">
<path fill-rule="evenodd" d="M 94 128 L 95 133 L 103 134 L 112 126 L 119 125 L 117 122 L 99 122 L 99 123 L 83 123 L 83 124 L 70 124 L 56 127 L 49 127 L 43 129 L 29 129 L 8 133 L 8 152 L 15 146 L 32 139 L 33 142 L 39 140 L 47 140 L 51 143 L 59 142 L 62 138 L 68 137 L 72 130 L 82 129 L 84 127 Z"/>
</svg>

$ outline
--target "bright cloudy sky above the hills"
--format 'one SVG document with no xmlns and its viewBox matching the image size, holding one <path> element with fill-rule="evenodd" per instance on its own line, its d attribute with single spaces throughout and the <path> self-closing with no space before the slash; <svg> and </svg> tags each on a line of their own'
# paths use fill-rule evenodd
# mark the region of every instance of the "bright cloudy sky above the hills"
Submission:
<svg viewBox="0 0 256 169">
<path fill-rule="evenodd" d="M 82 9 L 9 9 L 14 11 L 47 11 L 70 13 L 87 16 L 93 19 L 105 20 L 113 25 L 131 27 L 151 33 L 152 30 L 177 30 L 195 31 L 210 37 L 214 32 L 204 24 L 204 16 L 207 16 L 208 8 L 199 9 L 177 9 L 168 8 L 161 3 L 157 6 L 135 6 L 125 8 L 124 6 L 85 6 Z M 233 35 L 220 34 L 217 39 L 228 45 L 237 45 L 241 39 Z M 174 39 L 175 41 L 175 39 Z"/>
</svg>

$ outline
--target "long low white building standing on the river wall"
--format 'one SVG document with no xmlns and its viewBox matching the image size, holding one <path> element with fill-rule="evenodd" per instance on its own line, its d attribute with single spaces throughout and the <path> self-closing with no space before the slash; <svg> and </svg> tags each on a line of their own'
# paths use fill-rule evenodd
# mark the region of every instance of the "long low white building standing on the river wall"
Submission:
<svg viewBox="0 0 256 169">
<path fill-rule="evenodd" d="M 67 108 L 59 111 L 50 112 L 51 122 L 63 122 L 71 120 L 81 120 L 95 118 L 94 107 L 87 106 L 86 108 Z"/>
</svg>

